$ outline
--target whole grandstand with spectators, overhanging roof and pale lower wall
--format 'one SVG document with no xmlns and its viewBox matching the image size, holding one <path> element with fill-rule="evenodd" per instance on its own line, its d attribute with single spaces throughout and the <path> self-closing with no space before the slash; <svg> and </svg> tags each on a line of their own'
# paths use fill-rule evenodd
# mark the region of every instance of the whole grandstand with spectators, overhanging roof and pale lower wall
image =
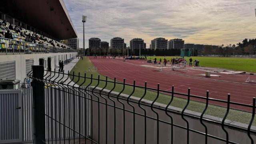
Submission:
<svg viewBox="0 0 256 144">
<path fill-rule="evenodd" d="M 63 39 L 76 38 L 63 0 L 4 0 L 0 6 L 0 79 L 24 80 L 31 65 L 58 68 L 77 55 Z"/>
</svg>

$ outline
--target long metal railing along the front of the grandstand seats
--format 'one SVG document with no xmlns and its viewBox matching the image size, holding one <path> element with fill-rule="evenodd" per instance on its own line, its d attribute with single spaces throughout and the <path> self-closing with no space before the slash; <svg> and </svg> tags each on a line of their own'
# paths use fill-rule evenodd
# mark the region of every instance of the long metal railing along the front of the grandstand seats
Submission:
<svg viewBox="0 0 256 144">
<path fill-rule="evenodd" d="M 64 52 L 77 52 L 77 50 L 0 38 L 0 54 L 42 54 Z"/>
</svg>

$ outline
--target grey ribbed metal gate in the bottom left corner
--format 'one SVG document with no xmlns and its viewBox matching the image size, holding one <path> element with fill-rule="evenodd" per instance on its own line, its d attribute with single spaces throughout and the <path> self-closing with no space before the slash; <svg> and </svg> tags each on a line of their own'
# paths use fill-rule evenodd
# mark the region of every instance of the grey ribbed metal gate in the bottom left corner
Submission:
<svg viewBox="0 0 256 144">
<path fill-rule="evenodd" d="M 0 91 L 0 144 L 22 141 L 22 90 Z"/>
</svg>

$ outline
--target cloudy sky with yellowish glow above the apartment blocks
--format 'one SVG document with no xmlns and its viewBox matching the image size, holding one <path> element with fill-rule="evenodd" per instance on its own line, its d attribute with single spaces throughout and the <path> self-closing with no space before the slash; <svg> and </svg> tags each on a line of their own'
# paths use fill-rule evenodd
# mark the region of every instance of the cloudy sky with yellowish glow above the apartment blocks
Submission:
<svg viewBox="0 0 256 144">
<path fill-rule="evenodd" d="M 185 43 L 236 44 L 256 38 L 256 0 L 64 0 L 82 48 L 88 39 L 118 36 L 130 44 L 142 38 L 149 47 L 157 37 Z"/>
</svg>

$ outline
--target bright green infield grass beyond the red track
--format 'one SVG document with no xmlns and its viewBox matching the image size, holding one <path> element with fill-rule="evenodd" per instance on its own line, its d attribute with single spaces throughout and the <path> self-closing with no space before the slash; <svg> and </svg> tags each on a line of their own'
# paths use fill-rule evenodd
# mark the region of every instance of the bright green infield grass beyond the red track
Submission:
<svg viewBox="0 0 256 144">
<path fill-rule="evenodd" d="M 171 58 L 176 58 L 177 56 L 166 56 L 167 60 Z M 155 58 L 151 56 L 152 60 Z M 159 61 L 160 58 L 164 59 L 164 56 L 156 56 Z M 186 60 L 189 60 L 189 57 L 185 57 Z M 150 57 L 148 57 L 148 60 Z M 246 72 L 256 72 L 256 58 L 222 58 L 222 57 L 202 57 L 194 56 L 194 60 L 200 60 L 200 66 L 213 67 L 213 68 L 225 68 L 229 70 L 238 70 Z"/>
</svg>

